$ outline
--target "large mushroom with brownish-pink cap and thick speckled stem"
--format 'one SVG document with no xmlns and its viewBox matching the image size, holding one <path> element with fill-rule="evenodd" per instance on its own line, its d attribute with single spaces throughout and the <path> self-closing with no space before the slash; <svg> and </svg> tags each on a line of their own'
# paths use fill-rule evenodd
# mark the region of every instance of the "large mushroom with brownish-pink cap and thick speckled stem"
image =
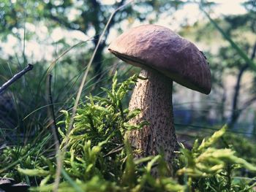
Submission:
<svg viewBox="0 0 256 192">
<path fill-rule="evenodd" d="M 171 165 L 178 147 L 173 125 L 173 81 L 200 93 L 211 92 L 208 62 L 197 47 L 169 28 L 143 25 L 130 29 L 110 43 L 116 57 L 142 68 L 129 110 L 140 109 L 129 123 L 147 120 L 142 130 L 127 131 L 138 157 L 164 152 Z"/>
</svg>

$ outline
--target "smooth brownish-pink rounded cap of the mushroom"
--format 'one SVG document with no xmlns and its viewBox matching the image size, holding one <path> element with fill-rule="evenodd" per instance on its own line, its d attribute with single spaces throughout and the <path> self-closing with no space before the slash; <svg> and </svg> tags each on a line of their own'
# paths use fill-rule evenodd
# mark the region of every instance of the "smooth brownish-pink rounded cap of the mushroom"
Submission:
<svg viewBox="0 0 256 192">
<path fill-rule="evenodd" d="M 197 47 L 169 28 L 143 25 L 121 34 L 108 47 L 128 64 L 155 69 L 195 91 L 211 92 L 208 62 Z"/>
</svg>

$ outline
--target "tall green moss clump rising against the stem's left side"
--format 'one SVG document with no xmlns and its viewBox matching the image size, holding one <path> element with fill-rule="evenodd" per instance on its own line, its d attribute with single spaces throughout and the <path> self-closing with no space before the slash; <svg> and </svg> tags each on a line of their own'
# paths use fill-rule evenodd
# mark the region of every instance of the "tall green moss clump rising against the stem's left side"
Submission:
<svg viewBox="0 0 256 192">
<path fill-rule="evenodd" d="M 112 88 L 110 90 L 102 88 L 107 94 L 105 98 L 88 96 L 88 102 L 82 104 L 75 115 L 75 123 L 68 137 L 65 135 L 69 128 L 69 113 L 62 111 L 66 118 L 65 121 L 59 122 L 59 125 L 64 123 L 65 128 L 64 131 L 59 128 L 59 131 L 64 142 L 68 138 L 68 146 L 72 148 L 89 140 L 93 145 L 97 145 L 99 142 L 108 142 L 108 145 L 111 145 L 108 149 L 112 150 L 113 147 L 122 143 L 124 131 L 145 125 L 146 122 L 141 122 L 138 126 L 129 125 L 127 122 L 138 115 L 140 110 L 129 112 L 128 109 L 123 109 L 121 103 L 131 86 L 135 85 L 136 80 L 137 75 L 134 75 L 118 85 L 117 74 L 115 74 Z M 62 143 L 64 144 L 64 142 Z"/>
</svg>

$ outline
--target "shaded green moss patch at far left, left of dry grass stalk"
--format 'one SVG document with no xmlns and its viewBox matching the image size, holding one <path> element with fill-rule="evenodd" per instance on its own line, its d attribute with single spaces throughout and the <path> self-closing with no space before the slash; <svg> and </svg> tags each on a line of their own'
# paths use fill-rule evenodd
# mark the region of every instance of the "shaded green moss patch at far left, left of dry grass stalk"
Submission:
<svg viewBox="0 0 256 192">
<path fill-rule="evenodd" d="M 38 142 L 37 145 L 25 145 L 25 146 L 14 146 L 14 147 L 4 147 L 1 150 L 0 155 L 0 175 L 4 177 L 12 177 L 15 180 L 28 181 L 27 177 L 24 177 L 24 174 L 20 174 L 21 170 L 24 170 L 24 173 L 32 174 L 31 169 L 35 167 L 44 167 L 47 165 L 50 166 L 51 161 L 54 161 L 52 158 L 45 158 L 45 152 L 50 153 L 49 150 L 43 151 L 48 145 L 50 136 L 42 138 L 41 142 Z M 51 169 L 53 170 L 53 169 Z M 43 169 L 37 169 L 37 172 L 33 172 L 37 177 L 45 176 L 47 172 Z"/>
</svg>

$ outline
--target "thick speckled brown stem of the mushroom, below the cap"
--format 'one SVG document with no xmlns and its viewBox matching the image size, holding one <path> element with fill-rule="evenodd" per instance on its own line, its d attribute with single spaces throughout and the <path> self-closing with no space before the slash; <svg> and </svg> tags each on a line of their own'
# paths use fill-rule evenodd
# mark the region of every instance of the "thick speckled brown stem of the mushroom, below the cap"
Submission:
<svg viewBox="0 0 256 192">
<path fill-rule="evenodd" d="M 137 157 L 164 152 L 165 160 L 171 165 L 178 146 L 173 126 L 173 80 L 154 69 L 143 69 L 140 77 L 146 80 L 138 79 L 129 110 L 140 109 L 141 112 L 129 123 L 136 125 L 147 120 L 150 125 L 142 130 L 127 131 L 127 138 L 138 151 Z"/>
</svg>

